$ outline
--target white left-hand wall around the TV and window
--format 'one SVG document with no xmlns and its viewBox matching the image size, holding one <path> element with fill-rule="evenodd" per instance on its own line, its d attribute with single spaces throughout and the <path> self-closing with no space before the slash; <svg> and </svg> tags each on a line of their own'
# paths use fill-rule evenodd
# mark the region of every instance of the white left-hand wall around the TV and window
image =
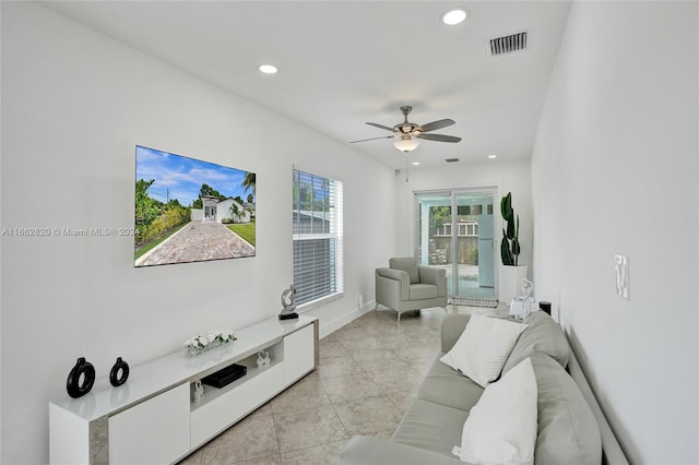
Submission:
<svg viewBox="0 0 699 465">
<path fill-rule="evenodd" d="M 258 208 L 252 259 L 134 269 L 131 237 L 2 237 L 0 462 L 48 461 L 47 403 L 78 357 L 104 379 L 280 312 L 294 163 L 345 187 L 346 297 L 313 311 L 321 331 L 374 298 L 392 170 L 34 3 L 1 8 L 2 227 L 131 227 L 135 144 L 257 172 Z"/>
</svg>

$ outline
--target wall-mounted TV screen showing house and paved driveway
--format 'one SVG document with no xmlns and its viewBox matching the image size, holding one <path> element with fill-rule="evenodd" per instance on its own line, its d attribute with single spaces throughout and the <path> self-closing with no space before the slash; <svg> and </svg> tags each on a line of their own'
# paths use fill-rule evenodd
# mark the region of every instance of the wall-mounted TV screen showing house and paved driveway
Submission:
<svg viewBox="0 0 699 465">
<path fill-rule="evenodd" d="M 254 257 L 256 175 L 135 147 L 134 265 Z"/>
</svg>

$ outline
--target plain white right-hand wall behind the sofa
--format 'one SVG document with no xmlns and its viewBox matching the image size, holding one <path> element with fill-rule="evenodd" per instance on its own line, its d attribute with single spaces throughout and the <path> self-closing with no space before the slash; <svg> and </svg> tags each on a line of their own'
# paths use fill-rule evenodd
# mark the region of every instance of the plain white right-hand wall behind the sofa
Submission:
<svg viewBox="0 0 699 465">
<path fill-rule="evenodd" d="M 532 156 L 534 282 L 632 463 L 699 462 L 697 25 L 696 2 L 573 2 Z"/>
</svg>

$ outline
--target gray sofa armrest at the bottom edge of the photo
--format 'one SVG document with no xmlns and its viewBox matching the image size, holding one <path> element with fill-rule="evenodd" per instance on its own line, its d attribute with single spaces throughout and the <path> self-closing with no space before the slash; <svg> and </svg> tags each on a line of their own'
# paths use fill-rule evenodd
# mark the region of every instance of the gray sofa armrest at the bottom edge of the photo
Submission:
<svg viewBox="0 0 699 465">
<path fill-rule="evenodd" d="M 386 439 L 355 436 L 340 454 L 341 465 L 464 465 L 457 456 L 448 457 L 424 449 Z"/>
</svg>

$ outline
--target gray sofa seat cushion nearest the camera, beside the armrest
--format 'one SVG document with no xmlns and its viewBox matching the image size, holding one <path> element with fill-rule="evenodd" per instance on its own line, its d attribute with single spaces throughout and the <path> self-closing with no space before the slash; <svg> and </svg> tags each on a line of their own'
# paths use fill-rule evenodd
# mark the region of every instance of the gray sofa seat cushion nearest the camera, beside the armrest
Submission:
<svg viewBox="0 0 699 465">
<path fill-rule="evenodd" d="M 393 442 L 455 458 L 451 451 L 461 442 L 469 413 L 416 398 L 393 433 Z"/>
</svg>

